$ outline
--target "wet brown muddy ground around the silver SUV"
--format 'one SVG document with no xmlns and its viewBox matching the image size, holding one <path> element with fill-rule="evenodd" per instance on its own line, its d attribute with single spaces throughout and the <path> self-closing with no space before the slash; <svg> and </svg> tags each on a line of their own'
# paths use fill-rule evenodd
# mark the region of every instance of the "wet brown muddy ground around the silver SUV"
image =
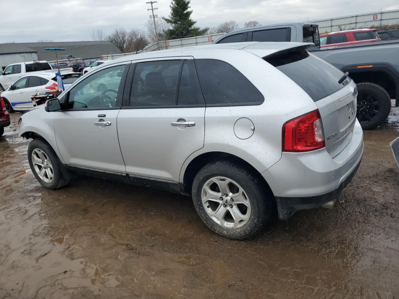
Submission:
<svg viewBox="0 0 399 299">
<path fill-rule="evenodd" d="M 332 210 L 297 212 L 252 240 L 201 222 L 189 197 L 78 177 L 49 191 L 17 121 L 0 138 L 0 298 L 399 298 L 399 109 L 366 131 Z"/>
</svg>

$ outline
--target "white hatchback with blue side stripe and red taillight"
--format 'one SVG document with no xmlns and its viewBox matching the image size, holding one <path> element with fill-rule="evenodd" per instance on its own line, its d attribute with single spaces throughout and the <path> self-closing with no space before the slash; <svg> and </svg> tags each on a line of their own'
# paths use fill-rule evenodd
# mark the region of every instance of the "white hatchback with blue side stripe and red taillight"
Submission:
<svg viewBox="0 0 399 299">
<path fill-rule="evenodd" d="M 66 89 L 79 79 L 81 74 L 61 72 L 61 77 Z M 40 91 L 51 91 L 58 88 L 55 78 L 53 72 L 32 73 L 32 75 L 21 77 L 0 94 L 6 105 L 6 110 L 8 112 L 29 110 L 34 106 L 31 96 Z"/>
</svg>

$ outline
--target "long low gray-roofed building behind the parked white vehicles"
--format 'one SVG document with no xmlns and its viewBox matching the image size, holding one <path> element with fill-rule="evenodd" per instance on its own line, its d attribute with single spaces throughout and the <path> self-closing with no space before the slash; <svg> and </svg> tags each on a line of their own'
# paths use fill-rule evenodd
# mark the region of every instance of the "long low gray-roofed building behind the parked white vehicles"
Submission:
<svg viewBox="0 0 399 299">
<path fill-rule="evenodd" d="M 100 59 L 101 55 L 119 54 L 120 50 L 113 43 L 107 41 L 59 41 L 51 43 L 2 43 L 0 44 L 0 68 L 11 63 L 47 60 L 54 61 L 54 51 L 44 48 L 63 48 L 58 51 L 58 59 L 71 57 L 87 59 Z"/>
</svg>

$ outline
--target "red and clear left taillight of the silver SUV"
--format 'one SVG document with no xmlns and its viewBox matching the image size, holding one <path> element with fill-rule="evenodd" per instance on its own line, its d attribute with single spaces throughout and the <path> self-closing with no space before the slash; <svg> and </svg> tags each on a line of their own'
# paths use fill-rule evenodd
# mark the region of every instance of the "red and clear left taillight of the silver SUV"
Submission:
<svg viewBox="0 0 399 299">
<path fill-rule="evenodd" d="M 324 146 L 319 110 L 289 120 L 282 126 L 282 151 L 312 151 Z"/>
</svg>

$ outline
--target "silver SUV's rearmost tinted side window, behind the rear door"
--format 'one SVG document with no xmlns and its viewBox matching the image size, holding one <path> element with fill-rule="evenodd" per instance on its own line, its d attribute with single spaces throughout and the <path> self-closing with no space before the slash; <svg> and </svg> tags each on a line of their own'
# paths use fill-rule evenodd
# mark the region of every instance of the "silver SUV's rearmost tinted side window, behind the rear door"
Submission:
<svg viewBox="0 0 399 299">
<path fill-rule="evenodd" d="M 207 106 L 259 105 L 265 100 L 243 74 L 224 61 L 196 59 L 196 67 Z"/>
</svg>

